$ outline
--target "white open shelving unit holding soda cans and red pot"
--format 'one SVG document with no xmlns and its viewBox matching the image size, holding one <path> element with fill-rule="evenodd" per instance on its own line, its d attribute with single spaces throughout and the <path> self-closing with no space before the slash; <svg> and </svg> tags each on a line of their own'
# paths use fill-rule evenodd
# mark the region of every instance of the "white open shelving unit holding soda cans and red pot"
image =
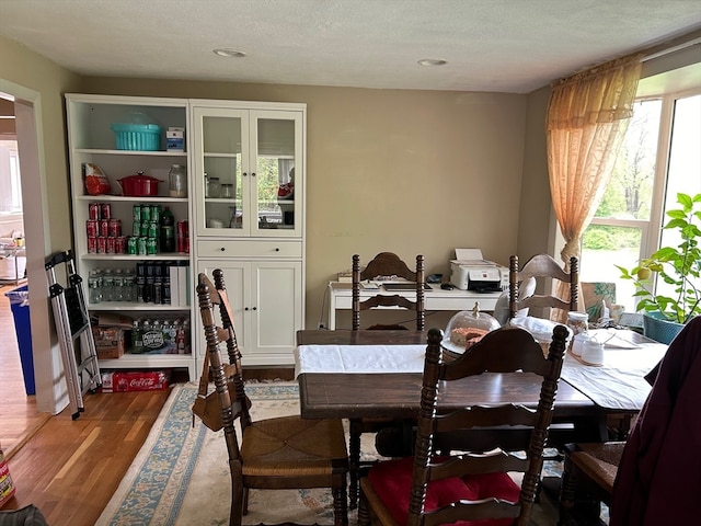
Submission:
<svg viewBox="0 0 701 526">
<path fill-rule="evenodd" d="M 191 199 L 170 197 L 168 172 L 172 164 L 189 167 L 187 152 L 165 151 L 164 130 L 169 126 L 189 129 L 188 101 L 185 99 L 131 98 L 110 95 L 67 94 L 68 137 L 70 152 L 70 179 L 73 210 L 74 252 L 78 273 L 88 283 L 93 268 L 136 270 L 143 261 L 187 262 L 192 265 L 192 255 L 186 253 L 159 253 L 150 255 L 102 254 L 89 250 L 87 220 L 90 218 L 91 203 L 110 204 L 112 217 L 122 220 L 123 236 L 133 232 L 134 205 L 160 204 L 168 206 L 175 220 L 188 220 L 192 216 Z M 129 122 L 133 112 L 147 114 L 162 128 L 158 151 L 137 151 L 115 149 L 115 135 L 110 128 L 113 123 Z M 187 150 L 187 148 L 186 148 Z M 96 164 L 107 175 L 112 195 L 89 195 L 83 180 L 83 165 Z M 159 195 L 153 197 L 126 197 L 120 195 L 118 180 L 143 171 L 154 176 L 159 183 Z M 192 221 L 189 221 L 192 224 Z M 193 240 L 192 232 L 189 233 Z M 192 241 L 191 241 L 192 242 Z M 192 247 L 192 245 L 191 245 Z M 192 282 L 187 284 L 192 289 Z M 192 305 L 171 306 L 145 302 L 113 301 L 88 304 L 90 313 L 113 312 L 131 318 L 180 318 L 193 320 Z M 127 353 L 117 359 L 101 359 L 102 369 L 120 368 L 187 368 L 189 378 L 195 379 L 198 370 L 195 365 L 196 335 L 192 331 L 192 354 L 133 354 Z"/>
</svg>

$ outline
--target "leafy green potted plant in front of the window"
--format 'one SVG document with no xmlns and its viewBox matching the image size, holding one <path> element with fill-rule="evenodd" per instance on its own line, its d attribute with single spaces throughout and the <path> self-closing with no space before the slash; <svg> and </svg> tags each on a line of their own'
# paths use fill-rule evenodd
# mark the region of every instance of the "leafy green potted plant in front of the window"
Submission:
<svg viewBox="0 0 701 526">
<path fill-rule="evenodd" d="M 663 343 L 671 342 L 687 321 L 701 315 L 701 194 L 679 193 L 677 203 L 681 208 L 667 211 L 670 219 L 663 228 L 676 230 L 681 238 L 679 244 L 660 248 L 630 271 L 616 265 L 621 278 L 636 285 L 634 296 L 640 301 L 635 310 L 643 311 L 645 334 Z M 674 296 L 655 294 L 654 274 L 674 287 Z M 659 329 L 656 322 L 667 322 L 667 328 L 662 334 L 648 334 Z"/>
</svg>

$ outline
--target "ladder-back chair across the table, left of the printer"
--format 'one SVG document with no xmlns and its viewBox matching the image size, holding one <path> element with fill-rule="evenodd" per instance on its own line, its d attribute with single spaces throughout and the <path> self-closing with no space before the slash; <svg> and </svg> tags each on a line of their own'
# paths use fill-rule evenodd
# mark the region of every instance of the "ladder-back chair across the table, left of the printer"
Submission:
<svg viewBox="0 0 701 526">
<path fill-rule="evenodd" d="M 406 279 L 414 284 L 415 299 L 411 299 L 401 294 L 387 295 L 377 294 L 370 298 L 360 300 L 361 283 L 367 281 L 400 281 Z M 416 330 L 423 331 L 426 323 L 426 311 L 424 309 L 424 256 L 416 256 L 416 270 L 409 268 L 397 254 L 392 252 L 380 252 L 367 266 L 360 271 L 360 256 L 353 256 L 353 330 L 360 329 L 360 312 L 378 307 L 395 307 L 412 310 L 415 313 Z M 405 329 L 401 324 L 376 325 L 376 329 Z M 372 327 L 370 327 L 372 329 Z"/>
</svg>

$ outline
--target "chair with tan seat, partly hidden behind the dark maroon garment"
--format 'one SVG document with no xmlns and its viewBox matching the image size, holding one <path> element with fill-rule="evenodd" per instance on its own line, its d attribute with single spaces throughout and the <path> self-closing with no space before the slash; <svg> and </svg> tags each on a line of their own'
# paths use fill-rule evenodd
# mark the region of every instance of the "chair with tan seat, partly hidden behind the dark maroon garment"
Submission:
<svg viewBox="0 0 701 526">
<path fill-rule="evenodd" d="M 598 521 L 600 502 L 611 503 L 613 482 L 625 442 L 567 444 L 560 492 L 560 519 L 566 526 L 575 502 L 586 503 L 591 521 Z"/>
</svg>

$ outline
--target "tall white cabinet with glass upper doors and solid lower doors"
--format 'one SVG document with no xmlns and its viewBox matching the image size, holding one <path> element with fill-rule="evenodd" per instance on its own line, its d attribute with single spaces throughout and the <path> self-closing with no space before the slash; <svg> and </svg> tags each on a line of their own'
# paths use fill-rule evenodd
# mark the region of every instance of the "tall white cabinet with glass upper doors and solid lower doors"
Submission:
<svg viewBox="0 0 701 526">
<path fill-rule="evenodd" d="M 197 271 L 223 271 L 245 365 L 292 365 L 304 319 L 306 105 L 191 104 Z M 200 338 L 198 359 L 205 352 Z"/>
</svg>

